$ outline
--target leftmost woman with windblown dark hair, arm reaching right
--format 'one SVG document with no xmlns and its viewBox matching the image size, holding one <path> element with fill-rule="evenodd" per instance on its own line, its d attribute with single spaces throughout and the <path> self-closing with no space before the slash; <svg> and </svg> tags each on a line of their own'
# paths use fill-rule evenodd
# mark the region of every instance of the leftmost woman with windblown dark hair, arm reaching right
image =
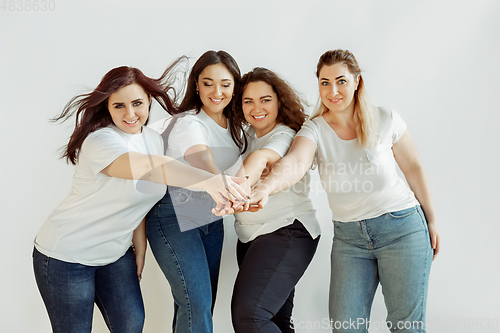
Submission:
<svg viewBox="0 0 500 333">
<path fill-rule="evenodd" d="M 63 152 L 75 166 L 71 192 L 43 224 L 33 252 L 53 332 L 90 332 L 94 303 L 110 331 L 142 332 L 144 217 L 166 184 L 203 189 L 218 201 L 230 197 L 226 189 L 244 194 L 230 178 L 163 156 L 161 137 L 144 126 L 152 98 L 167 112 L 177 110 L 171 69 L 155 80 L 136 68 L 114 68 L 55 118 L 76 120 Z"/>
</svg>

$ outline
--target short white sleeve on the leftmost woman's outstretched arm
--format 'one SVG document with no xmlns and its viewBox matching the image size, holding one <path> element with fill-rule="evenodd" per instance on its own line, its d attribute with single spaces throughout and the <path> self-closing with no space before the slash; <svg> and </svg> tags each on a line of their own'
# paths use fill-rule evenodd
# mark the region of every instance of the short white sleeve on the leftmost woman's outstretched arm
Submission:
<svg viewBox="0 0 500 333">
<path fill-rule="evenodd" d="M 85 161 L 97 176 L 120 155 L 129 151 L 127 142 L 111 128 L 101 128 L 91 133 L 83 142 L 78 161 Z"/>
</svg>

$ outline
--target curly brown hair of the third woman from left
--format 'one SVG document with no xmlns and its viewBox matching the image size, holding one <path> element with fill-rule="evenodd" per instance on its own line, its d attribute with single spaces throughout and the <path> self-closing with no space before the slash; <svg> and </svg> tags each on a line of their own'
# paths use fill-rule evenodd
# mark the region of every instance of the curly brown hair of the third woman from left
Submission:
<svg viewBox="0 0 500 333">
<path fill-rule="evenodd" d="M 265 82 L 269 84 L 278 96 L 278 116 L 276 122 L 298 131 L 307 115 L 304 110 L 304 102 L 298 93 L 278 74 L 273 71 L 255 67 L 250 72 L 243 75 L 238 92 L 235 94 L 235 109 L 238 121 L 243 125 L 248 124 L 243 114 L 243 92 L 250 82 Z"/>
</svg>

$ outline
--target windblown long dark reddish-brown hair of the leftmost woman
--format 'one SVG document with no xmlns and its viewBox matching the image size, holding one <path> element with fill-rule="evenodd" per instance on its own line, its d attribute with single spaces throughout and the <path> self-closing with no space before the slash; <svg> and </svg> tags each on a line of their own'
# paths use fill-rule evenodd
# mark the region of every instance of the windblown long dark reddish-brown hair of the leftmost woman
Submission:
<svg viewBox="0 0 500 333">
<path fill-rule="evenodd" d="M 177 93 L 172 87 L 173 69 L 183 59 L 185 57 L 174 61 L 158 79 L 149 78 L 134 67 L 113 68 L 102 77 L 92 92 L 73 97 L 63 111 L 51 119 L 53 122 L 65 122 L 75 116 L 75 129 L 68 144 L 62 147 L 61 158 L 66 158 L 71 164 L 77 163 L 78 153 L 87 136 L 113 123 L 108 111 L 109 96 L 130 84 L 140 85 L 144 92 L 154 98 L 169 114 L 178 113 Z M 151 105 L 149 109 L 151 110 Z"/>
</svg>

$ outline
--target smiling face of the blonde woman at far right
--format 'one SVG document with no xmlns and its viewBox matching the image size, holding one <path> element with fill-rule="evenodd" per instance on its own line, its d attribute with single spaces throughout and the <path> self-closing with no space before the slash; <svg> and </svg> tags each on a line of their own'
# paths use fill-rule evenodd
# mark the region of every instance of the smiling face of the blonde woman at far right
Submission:
<svg viewBox="0 0 500 333">
<path fill-rule="evenodd" d="M 325 65 L 319 71 L 319 95 L 325 107 L 332 112 L 354 113 L 354 92 L 359 76 L 349 72 L 347 65 Z"/>
</svg>

